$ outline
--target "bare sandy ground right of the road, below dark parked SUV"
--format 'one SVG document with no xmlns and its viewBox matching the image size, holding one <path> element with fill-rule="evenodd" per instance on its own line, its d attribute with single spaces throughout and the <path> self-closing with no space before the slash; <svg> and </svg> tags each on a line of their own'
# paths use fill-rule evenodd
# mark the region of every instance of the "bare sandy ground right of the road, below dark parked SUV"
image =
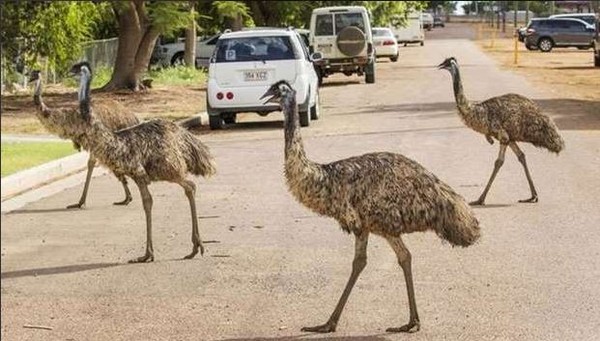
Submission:
<svg viewBox="0 0 600 341">
<path fill-rule="evenodd" d="M 600 129 L 600 68 L 594 67 L 592 50 L 558 48 L 549 53 L 528 51 L 518 44 L 518 64 L 514 64 L 514 40 L 501 37 L 491 47 L 489 39 L 479 47 L 500 62 L 502 68 L 521 74 L 551 93 L 553 99 L 540 105 L 555 116 L 562 129 Z"/>
</svg>

